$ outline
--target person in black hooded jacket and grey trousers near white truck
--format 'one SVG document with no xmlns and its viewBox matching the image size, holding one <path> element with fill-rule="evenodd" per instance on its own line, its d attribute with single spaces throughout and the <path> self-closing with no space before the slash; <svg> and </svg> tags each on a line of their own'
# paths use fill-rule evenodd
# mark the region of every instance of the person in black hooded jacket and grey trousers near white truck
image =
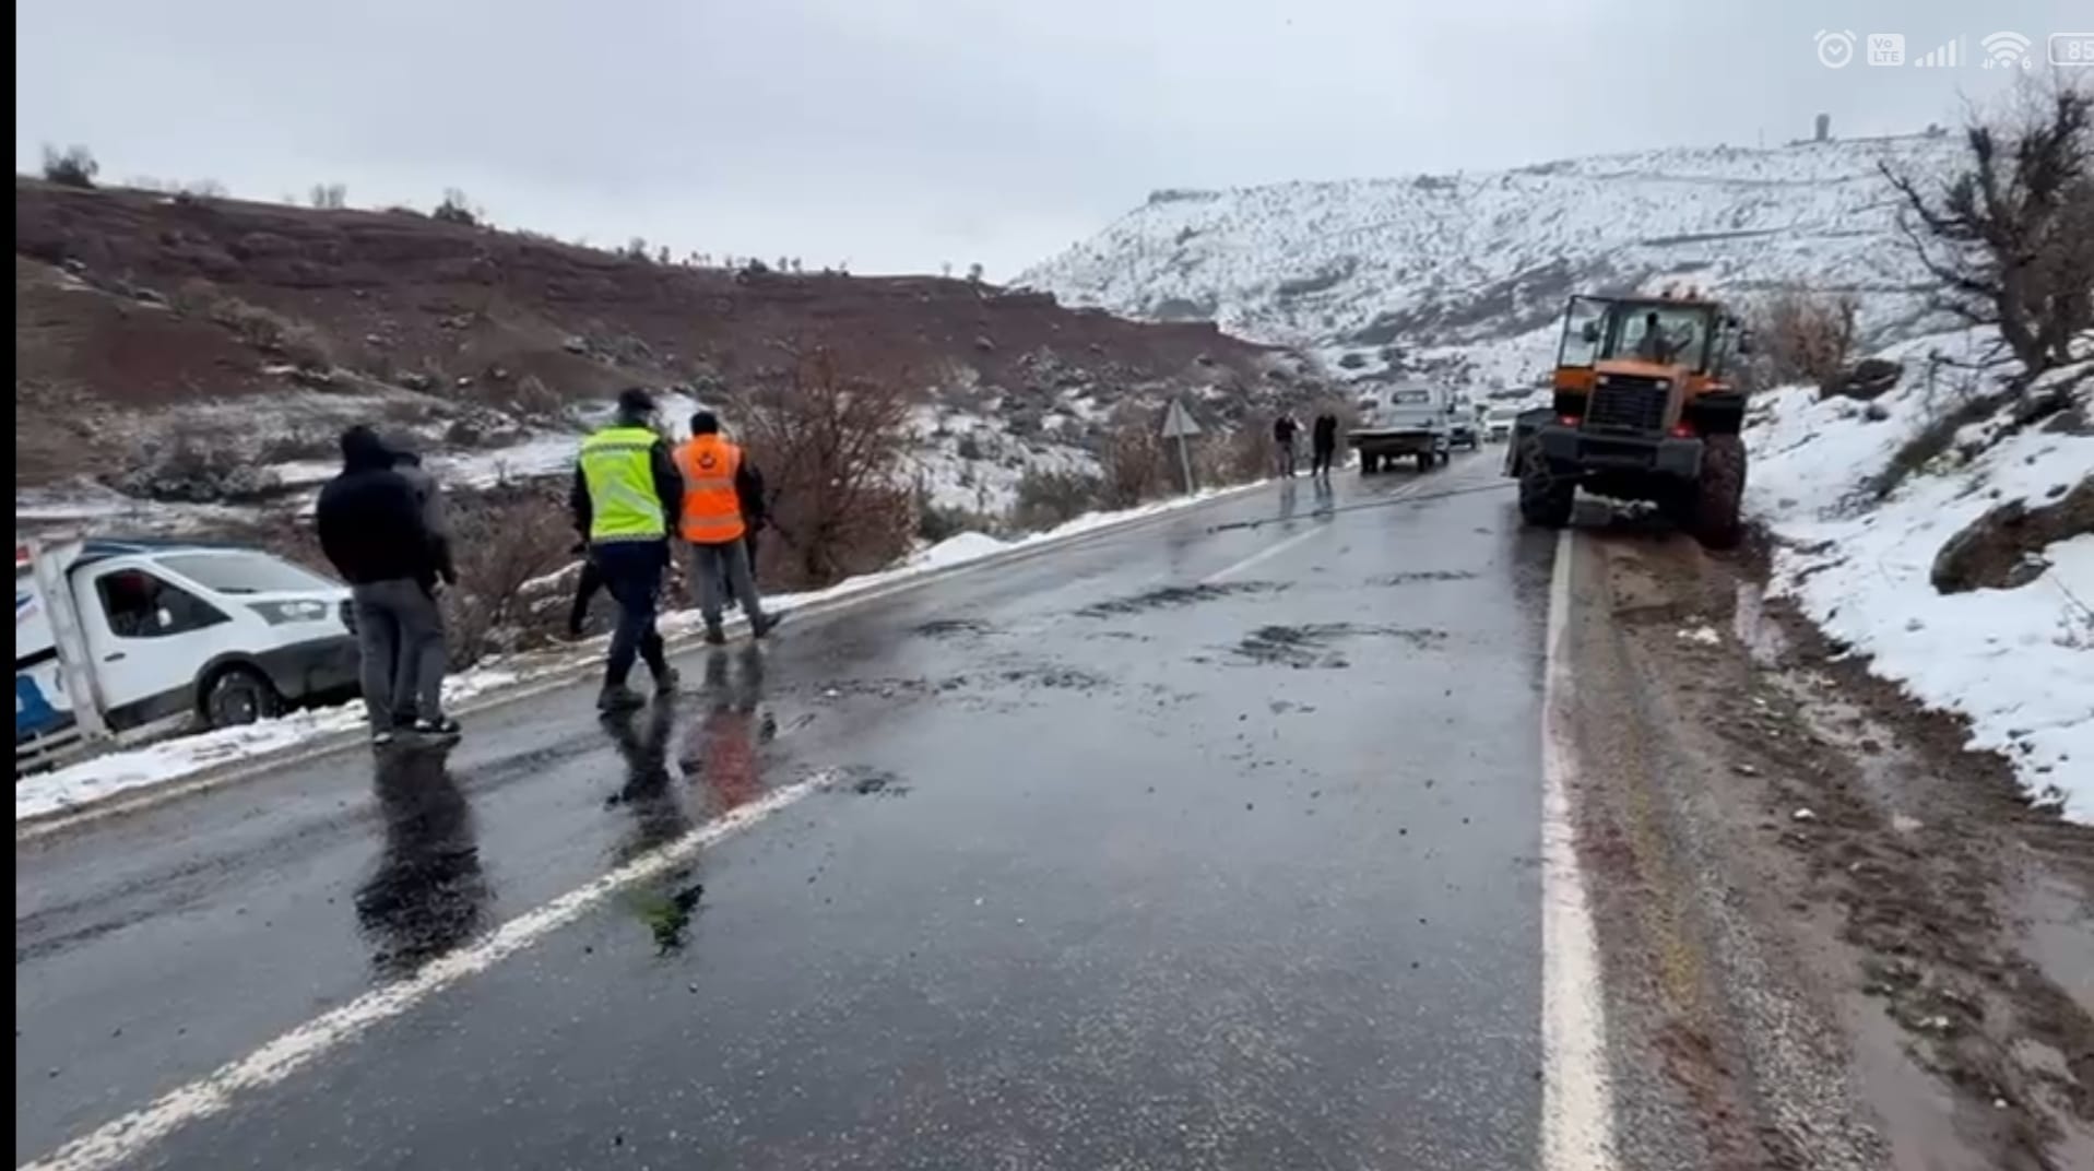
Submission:
<svg viewBox="0 0 2094 1171">
<path fill-rule="evenodd" d="M 314 509 L 320 549 L 350 582 L 371 742 L 379 746 L 402 731 L 459 733 L 442 708 L 444 614 L 436 589 L 446 564 L 394 459 L 377 432 L 350 427 L 341 434 L 341 476 L 320 488 Z"/>
</svg>

